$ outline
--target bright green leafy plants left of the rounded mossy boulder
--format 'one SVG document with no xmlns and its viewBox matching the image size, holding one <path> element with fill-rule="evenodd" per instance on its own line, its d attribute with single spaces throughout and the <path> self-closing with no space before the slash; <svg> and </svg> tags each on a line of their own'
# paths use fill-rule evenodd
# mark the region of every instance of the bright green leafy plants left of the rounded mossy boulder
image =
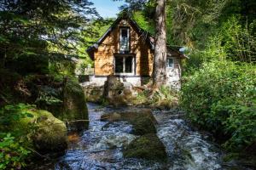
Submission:
<svg viewBox="0 0 256 170">
<path fill-rule="evenodd" d="M 0 110 L 0 169 L 26 166 L 26 158 L 31 154 L 26 149 L 29 144 L 27 134 L 33 125 L 28 124 L 26 128 L 15 126 L 22 118 L 32 117 L 32 114 L 26 112 L 32 108 L 33 105 L 19 104 L 6 105 Z"/>
</svg>

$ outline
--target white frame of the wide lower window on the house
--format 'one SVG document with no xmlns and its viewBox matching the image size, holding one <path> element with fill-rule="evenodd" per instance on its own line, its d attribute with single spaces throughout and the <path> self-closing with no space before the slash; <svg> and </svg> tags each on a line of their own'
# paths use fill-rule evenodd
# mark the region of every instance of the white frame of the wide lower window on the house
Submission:
<svg viewBox="0 0 256 170">
<path fill-rule="evenodd" d="M 115 58 L 116 57 L 122 57 L 123 58 L 123 72 L 115 72 Z M 125 58 L 126 57 L 132 57 L 131 72 L 125 72 Z M 132 54 L 115 54 L 113 56 L 113 71 L 114 71 L 114 75 L 120 75 L 120 76 L 135 75 L 135 55 L 132 55 Z"/>
</svg>

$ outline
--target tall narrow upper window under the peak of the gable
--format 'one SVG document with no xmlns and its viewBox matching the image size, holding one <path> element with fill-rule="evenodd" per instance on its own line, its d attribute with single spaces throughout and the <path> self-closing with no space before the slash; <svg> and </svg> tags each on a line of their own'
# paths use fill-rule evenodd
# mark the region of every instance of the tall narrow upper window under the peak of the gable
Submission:
<svg viewBox="0 0 256 170">
<path fill-rule="evenodd" d="M 120 53 L 130 51 L 130 29 L 128 27 L 120 28 Z"/>
</svg>

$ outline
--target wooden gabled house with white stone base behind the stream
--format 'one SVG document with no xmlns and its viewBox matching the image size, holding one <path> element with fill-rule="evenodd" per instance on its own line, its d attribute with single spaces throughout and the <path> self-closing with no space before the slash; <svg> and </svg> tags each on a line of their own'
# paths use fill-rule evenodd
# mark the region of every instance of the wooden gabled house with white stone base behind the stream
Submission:
<svg viewBox="0 0 256 170">
<path fill-rule="evenodd" d="M 108 75 L 114 75 L 121 82 L 141 86 L 152 75 L 154 37 L 131 18 L 119 17 L 87 53 L 94 61 L 90 82 L 102 85 Z M 184 55 L 178 48 L 167 47 L 167 84 L 180 86 L 181 59 Z"/>
</svg>

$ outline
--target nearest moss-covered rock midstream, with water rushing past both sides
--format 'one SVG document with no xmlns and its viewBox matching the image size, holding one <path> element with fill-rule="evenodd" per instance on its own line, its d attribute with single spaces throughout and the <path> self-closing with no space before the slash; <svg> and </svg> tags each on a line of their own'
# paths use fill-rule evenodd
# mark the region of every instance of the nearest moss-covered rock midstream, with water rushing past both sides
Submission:
<svg viewBox="0 0 256 170">
<path fill-rule="evenodd" d="M 148 160 L 166 160 L 166 149 L 156 134 L 148 133 L 135 139 L 123 150 L 125 157 L 144 158 Z"/>
</svg>

